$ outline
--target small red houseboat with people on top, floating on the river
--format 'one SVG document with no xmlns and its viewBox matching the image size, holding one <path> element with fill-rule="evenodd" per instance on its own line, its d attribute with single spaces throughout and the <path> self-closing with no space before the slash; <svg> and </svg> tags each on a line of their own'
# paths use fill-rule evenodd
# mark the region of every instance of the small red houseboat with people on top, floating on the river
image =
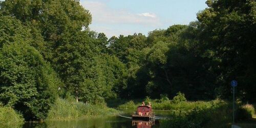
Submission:
<svg viewBox="0 0 256 128">
<path fill-rule="evenodd" d="M 155 119 L 155 113 L 153 112 L 151 106 L 138 106 L 137 112 L 133 112 L 133 119 Z"/>
</svg>

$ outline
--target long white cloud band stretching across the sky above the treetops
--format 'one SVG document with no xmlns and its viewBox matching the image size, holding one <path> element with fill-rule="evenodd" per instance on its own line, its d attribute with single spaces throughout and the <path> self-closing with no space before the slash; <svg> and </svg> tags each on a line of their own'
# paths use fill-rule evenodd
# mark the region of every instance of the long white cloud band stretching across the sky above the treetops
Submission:
<svg viewBox="0 0 256 128">
<path fill-rule="evenodd" d="M 81 5 L 88 9 L 93 22 L 104 24 L 140 24 L 143 26 L 160 26 L 160 20 L 154 13 L 134 14 L 127 10 L 112 9 L 101 2 L 83 1 Z"/>
</svg>

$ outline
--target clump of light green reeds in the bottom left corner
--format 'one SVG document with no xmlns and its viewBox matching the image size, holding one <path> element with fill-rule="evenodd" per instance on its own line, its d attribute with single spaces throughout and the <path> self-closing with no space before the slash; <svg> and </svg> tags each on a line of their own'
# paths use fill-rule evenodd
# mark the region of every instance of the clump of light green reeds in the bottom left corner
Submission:
<svg viewBox="0 0 256 128">
<path fill-rule="evenodd" d="M 0 106 L 0 127 L 20 127 L 24 118 L 10 107 Z"/>
</svg>

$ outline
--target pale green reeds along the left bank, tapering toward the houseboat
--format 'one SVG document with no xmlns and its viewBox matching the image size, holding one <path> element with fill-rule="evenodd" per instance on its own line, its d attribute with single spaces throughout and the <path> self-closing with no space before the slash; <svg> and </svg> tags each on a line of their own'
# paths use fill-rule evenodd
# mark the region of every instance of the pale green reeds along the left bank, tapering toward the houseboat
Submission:
<svg viewBox="0 0 256 128">
<path fill-rule="evenodd" d="M 70 120 L 97 117 L 118 113 L 117 110 L 108 108 L 106 105 L 93 105 L 57 98 L 49 111 L 47 120 Z"/>
</svg>

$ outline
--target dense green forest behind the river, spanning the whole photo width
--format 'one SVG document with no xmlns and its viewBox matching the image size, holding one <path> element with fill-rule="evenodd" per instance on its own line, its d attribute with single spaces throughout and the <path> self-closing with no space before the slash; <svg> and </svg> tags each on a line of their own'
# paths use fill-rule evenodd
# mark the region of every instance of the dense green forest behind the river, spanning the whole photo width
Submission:
<svg viewBox="0 0 256 128">
<path fill-rule="evenodd" d="M 256 2 L 207 0 L 197 21 L 107 38 L 77 0 L 0 2 L 0 104 L 44 119 L 56 97 L 256 102 Z"/>
</svg>

